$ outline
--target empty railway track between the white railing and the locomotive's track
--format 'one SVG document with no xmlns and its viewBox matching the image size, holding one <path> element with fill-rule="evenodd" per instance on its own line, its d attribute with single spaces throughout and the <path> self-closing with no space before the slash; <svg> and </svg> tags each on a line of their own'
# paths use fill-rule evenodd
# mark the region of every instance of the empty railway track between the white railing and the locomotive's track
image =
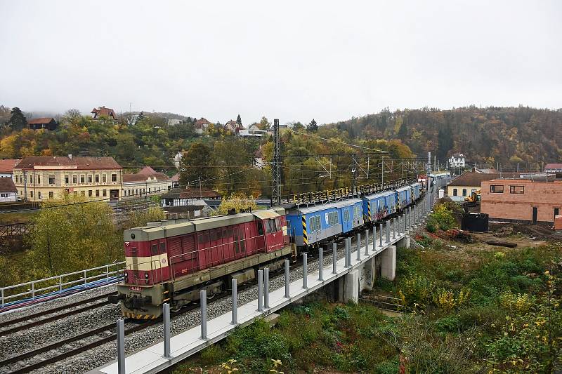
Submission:
<svg viewBox="0 0 562 374">
<path fill-rule="evenodd" d="M 20 317 L 20 318 L 17 318 L 17 319 L 11 319 L 10 321 L 2 322 L 2 323 L 0 323 L 0 329 L 1 329 L 0 330 L 0 337 L 5 336 L 5 335 L 9 335 L 11 333 L 15 333 L 17 331 L 26 330 L 27 328 L 32 328 L 34 326 L 39 326 L 39 325 L 42 325 L 44 323 L 57 321 L 58 319 L 63 319 L 66 316 L 71 316 L 72 314 L 77 314 L 77 313 L 80 313 L 80 312 L 86 312 L 86 310 L 91 310 L 91 309 L 103 307 L 103 305 L 109 304 L 109 302 L 107 301 L 107 297 L 110 296 L 110 295 L 115 295 L 115 293 L 116 292 L 105 293 L 104 295 L 98 295 L 94 298 L 89 298 L 89 299 L 86 299 L 86 300 L 73 302 L 72 304 L 63 305 L 61 307 L 56 307 L 56 308 L 53 308 L 53 309 L 48 309 L 44 312 L 30 314 L 30 315 L 23 316 L 23 317 Z M 96 302 L 98 300 L 103 300 L 103 301 Z M 96 303 L 91 304 L 91 302 L 96 302 Z M 81 305 L 84 305 L 84 307 L 80 307 Z M 78 307 L 78 308 L 76 308 L 76 307 Z M 76 308 L 76 309 L 73 309 L 73 308 Z M 63 312 L 63 313 L 58 313 L 58 312 L 66 310 L 66 309 L 71 309 L 71 310 L 67 310 L 67 312 Z M 54 314 L 54 315 L 50 316 L 51 314 Z M 27 323 L 22 323 L 22 322 L 27 322 Z M 14 325 L 16 325 L 16 326 L 14 326 Z"/>
</svg>

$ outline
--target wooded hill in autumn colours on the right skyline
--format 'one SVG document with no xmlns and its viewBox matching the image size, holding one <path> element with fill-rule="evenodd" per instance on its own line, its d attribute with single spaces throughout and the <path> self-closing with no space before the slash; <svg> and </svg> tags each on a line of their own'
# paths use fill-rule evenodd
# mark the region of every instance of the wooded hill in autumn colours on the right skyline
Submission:
<svg viewBox="0 0 562 374">
<path fill-rule="evenodd" d="M 400 139 L 417 156 L 455 152 L 495 166 L 542 166 L 562 159 L 562 109 L 475 106 L 442 110 L 404 109 L 370 114 L 328 126 L 350 138 Z M 538 165 L 537 165 L 538 163 Z"/>
</svg>

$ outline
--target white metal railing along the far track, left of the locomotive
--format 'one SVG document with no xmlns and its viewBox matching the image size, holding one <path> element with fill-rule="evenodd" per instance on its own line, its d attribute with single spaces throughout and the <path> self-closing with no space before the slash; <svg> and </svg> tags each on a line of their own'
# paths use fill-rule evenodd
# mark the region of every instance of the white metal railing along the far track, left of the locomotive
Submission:
<svg viewBox="0 0 562 374">
<path fill-rule="evenodd" d="M 121 272 L 124 264 L 124 261 L 115 262 L 92 267 L 91 269 L 79 270 L 78 272 L 2 287 L 0 288 L 1 307 L 4 308 L 4 305 L 8 302 L 12 303 L 25 299 L 35 300 L 51 293 L 63 293 L 63 291 L 69 288 L 84 286 L 93 281 L 101 281 L 103 279 L 110 281 L 113 277 L 119 276 L 119 272 Z"/>
</svg>

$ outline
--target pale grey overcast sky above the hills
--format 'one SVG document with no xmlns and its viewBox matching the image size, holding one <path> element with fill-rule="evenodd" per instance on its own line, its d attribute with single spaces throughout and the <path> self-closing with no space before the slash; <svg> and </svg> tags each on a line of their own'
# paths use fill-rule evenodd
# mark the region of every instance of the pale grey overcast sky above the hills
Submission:
<svg viewBox="0 0 562 374">
<path fill-rule="evenodd" d="M 320 123 L 562 107 L 562 1 L 0 0 L 0 104 Z"/>
</svg>

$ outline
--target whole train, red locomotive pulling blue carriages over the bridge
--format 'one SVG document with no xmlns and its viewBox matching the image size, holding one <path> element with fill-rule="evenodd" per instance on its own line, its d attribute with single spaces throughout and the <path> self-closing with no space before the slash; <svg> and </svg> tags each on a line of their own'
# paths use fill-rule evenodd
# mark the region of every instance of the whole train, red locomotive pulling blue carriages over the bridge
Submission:
<svg viewBox="0 0 562 374">
<path fill-rule="evenodd" d="M 293 203 L 233 215 L 149 222 L 124 231 L 124 281 L 110 301 L 122 314 L 155 319 L 162 304 L 180 309 L 281 269 L 286 258 L 351 236 L 401 213 L 424 193 L 413 180 L 295 196 Z"/>
</svg>

